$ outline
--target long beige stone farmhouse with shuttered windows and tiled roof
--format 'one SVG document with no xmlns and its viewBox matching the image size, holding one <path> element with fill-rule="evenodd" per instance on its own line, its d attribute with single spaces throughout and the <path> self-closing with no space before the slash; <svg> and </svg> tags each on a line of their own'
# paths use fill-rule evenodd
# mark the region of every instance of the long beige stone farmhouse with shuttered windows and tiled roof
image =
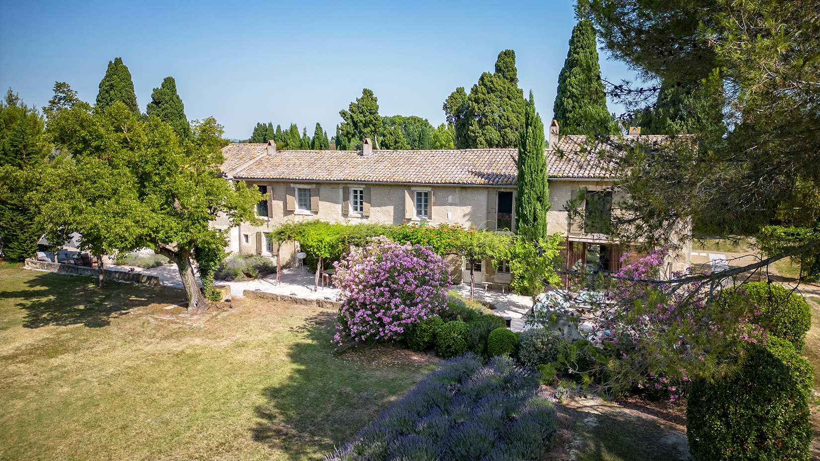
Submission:
<svg viewBox="0 0 820 461">
<path fill-rule="evenodd" d="M 636 134 L 627 136 L 630 138 Z M 659 136 L 643 136 L 642 138 Z M 594 155 L 585 154 L 585 136 L 558 137 L 558 124 L 550 127 L 548 161 L 548 233 L 566 236 L 564 262 L 589 270 L 621 267 L 629 243 L 614 242 L 585 219 L 569 219 L 567 201 L 585 189 L 585 213 L 613 203 L 613 185 L 606 168 Z M 230 252 L 274 257 L 276 243 L 266 233 L 284 221 L 318 219 L 330 222 L 404 222 L 476 226 L 480 229 L 515 230 L 517 149 L 479 148 L 450 150 L 379 150 L 365 139 L 361 151 L 277 151 L 276 144 L 229 144 L 222 149 L 222 171 L 229 180 L 244 180 L 269 199 L 258 203 L 262 226 L 243 224 L 229 230 Z M 617 199 L 617 198 L 616 198 Z M 585 222 L 587 224 L 585 225 Z M 599 220 L 596 220 L 599 222 Z M 225 221 L 214 226 L 227 229 Z M 295 262 L 298 244 L 283 244 L 285 267 Z M 569 252 L 567 252 L 569 248 Z M 667 272 L 690 265 L 690 244 L 667 258 Z M 567 253 L 569 258 L 567 258 Z M 469 267 L 460 258 L 453 263 L 453 282 L 469 280 Z M 460 270 L 458 269 L 460 267 Z M 503 262 L 476 264 L 476 283 L 500 285 L 510 281 Z"/>
</svg>

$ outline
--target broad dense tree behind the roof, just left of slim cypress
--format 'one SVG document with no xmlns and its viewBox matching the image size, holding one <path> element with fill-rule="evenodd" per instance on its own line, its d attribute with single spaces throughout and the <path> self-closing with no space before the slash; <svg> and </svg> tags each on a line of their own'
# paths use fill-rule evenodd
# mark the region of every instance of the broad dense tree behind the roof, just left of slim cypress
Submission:
<svg viewBox="0 0 820 461">
<path fill-rule="evenodd" d="M 517 146 L 524 113 L 518 88 L 515 52 L 499 52 L 495 72 L 481 74 L 470 94 L 458 87 L 444 101 L 448 123 L 455 128 L 458 148 L 512 148 Z"/>
</svg>

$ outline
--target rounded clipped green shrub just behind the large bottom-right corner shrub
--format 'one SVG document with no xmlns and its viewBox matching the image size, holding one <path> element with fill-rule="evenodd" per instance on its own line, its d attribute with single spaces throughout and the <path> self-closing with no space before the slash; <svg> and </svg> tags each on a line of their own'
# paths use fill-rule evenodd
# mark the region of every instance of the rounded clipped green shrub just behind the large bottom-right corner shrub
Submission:
<svg viewBox="0 0 820 461">
<path fill-rule="evenodd" d="M 754 316 L 754 323 L 763 326 L 769 335 L 790 340 L 797 350 L 803 349 L 806 331 L 812 326 L 812 310 L 803 296 L 782 285 L 754 281 L 722 290 L 717 302 L 742 302 L 744 294 L 760 312 Z"/>
</svg>

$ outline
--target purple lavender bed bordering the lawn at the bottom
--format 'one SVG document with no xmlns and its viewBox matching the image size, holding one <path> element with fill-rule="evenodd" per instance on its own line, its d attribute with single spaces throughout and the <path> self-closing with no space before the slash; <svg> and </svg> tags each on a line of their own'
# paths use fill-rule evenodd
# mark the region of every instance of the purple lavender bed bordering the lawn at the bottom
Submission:
<svg viewBox="0 0 820 461">
<path fill-rule="evenodd" d="M 326 461 L 540 459 L 557 431 L 539 375 L 464 354 L 431 372 Z"/>
</svg>

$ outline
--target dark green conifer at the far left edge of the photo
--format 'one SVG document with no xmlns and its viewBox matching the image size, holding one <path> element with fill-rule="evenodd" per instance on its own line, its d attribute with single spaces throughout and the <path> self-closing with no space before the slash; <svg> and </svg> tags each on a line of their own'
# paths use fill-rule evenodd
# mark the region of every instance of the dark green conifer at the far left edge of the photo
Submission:
<svg viewBox="0 0 820 461">
<path fill-rule="evenodd" d="M 37 207 L 28 198 L 48 153 L 43 127 L 43 118 L 9 89 L 0 102 L 0 248 L 15 261 L 34 256 L 43 235 L 35 223 Z"/>
</svg>

